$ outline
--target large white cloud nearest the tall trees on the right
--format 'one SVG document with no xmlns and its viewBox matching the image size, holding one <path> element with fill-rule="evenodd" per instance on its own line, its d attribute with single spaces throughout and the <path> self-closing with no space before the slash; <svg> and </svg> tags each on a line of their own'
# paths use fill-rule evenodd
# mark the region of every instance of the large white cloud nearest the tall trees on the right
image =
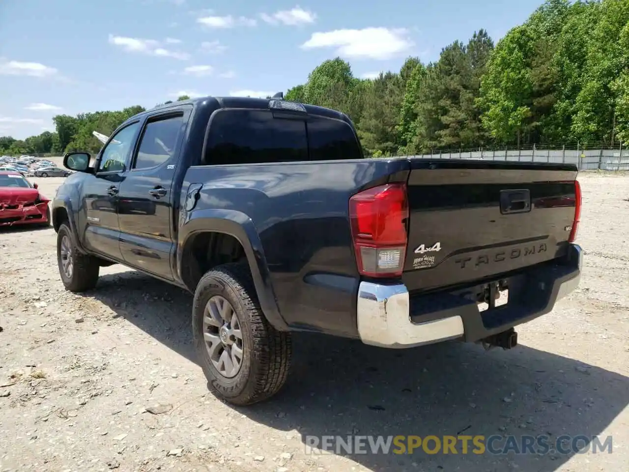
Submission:
<svg viewBox="0 0 629 472">
<path fill-rule="evenodd" d="M 413 46 L 402 28 L 364 28 L 313 33 L 303 49 L 335 48 L 340 56 L 352 59 L 391 59 Z"/>
</svg>

